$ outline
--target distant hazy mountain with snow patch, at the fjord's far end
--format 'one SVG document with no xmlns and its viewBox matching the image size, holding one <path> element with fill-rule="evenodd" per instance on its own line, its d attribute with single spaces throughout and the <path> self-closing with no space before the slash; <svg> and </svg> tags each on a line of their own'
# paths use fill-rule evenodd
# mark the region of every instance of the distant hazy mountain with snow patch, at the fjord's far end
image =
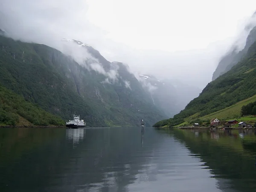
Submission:
<svg viewBox="0 0 256 192">
<path fill-rule="evenodd" d="M 170 117 L 179 113 L 201 92 L 198 87 L 192 87 L 180 81 L 169 79 L 160 81 L 154 76 L 147 74 L 140 74 L 139 77 L 143 87 L 151 90 L 154 104 L 163 109 L 166 115 Z"/>
</svg>

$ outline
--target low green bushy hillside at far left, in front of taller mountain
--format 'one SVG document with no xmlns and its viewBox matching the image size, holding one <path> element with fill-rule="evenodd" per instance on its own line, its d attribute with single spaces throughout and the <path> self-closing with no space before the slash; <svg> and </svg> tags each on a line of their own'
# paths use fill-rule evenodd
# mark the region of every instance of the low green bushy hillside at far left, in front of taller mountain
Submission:
<svg viewBox="0 0 256 192">
<path fill-rule="evenodd" d="M 64 121 L 0 85 L 0 125 L 64 125 Z"/>
</svg>

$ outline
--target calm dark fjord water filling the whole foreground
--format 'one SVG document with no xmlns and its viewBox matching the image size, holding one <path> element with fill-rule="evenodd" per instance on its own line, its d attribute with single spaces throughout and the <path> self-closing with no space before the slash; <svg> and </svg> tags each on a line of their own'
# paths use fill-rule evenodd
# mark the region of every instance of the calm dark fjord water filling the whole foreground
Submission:
<svg viewBox="0 0 256 192">
<path fill-rule="evenodd" d="M 1 192 L 256 191 L 254 130 L 1 128 Z"/>
</svg>

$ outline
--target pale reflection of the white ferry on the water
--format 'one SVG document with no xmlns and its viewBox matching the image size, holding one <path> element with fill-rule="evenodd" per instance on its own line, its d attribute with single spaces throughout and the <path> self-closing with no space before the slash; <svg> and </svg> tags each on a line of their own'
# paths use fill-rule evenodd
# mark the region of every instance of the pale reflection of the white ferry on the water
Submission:
<svg viewBox="0 0 256 192">
<path fill-rule="evenodd" d="M 73 148 L 84 140 L 85 129 L 66 129 L 66 140 L 73 142 Z"/>
</svg>

